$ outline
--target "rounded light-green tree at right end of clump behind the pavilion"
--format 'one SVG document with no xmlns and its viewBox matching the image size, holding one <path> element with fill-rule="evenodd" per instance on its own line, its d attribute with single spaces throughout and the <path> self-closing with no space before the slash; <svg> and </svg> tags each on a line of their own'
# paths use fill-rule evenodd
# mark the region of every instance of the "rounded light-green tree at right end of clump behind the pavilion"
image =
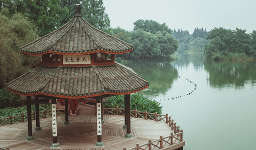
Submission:
<svg viewBox="0 0 256 150">
<path fill-rule="evenodd" d="M 158 31 L 156 33 L 156 36 L 158 38 L 158 43 L 160 46 L 160 55 L 164 57 L 177 51 L 179 43 L 177 39 L 173 38 L 172 34 L 168 33 L 167 31 Z"/>
</svg>

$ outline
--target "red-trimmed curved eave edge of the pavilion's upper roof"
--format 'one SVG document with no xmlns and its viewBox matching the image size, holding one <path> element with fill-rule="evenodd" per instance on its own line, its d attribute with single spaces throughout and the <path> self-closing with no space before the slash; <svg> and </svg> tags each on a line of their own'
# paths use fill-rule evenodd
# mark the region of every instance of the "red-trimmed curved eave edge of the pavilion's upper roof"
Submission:
<svg viewBox="0 0 256 150">
<path fill-rule="evenodd" d="M 132 52 L 134 49 L 126 49 L 126 50 L 119 50 L 119 51 L 114 51 L 114 50 L 106 50 L 106 49 L 93 49 L 93 50 L 88 50 L 88 51 L 82 51 L 82 52 L 65 52 L 65 51 L 53 51 L 53 50 L 46 50 L 46 51 L 41 51 L 41 52 L 26 52 L 26 51 L 21 51 L 23 54 L 27 55 L 43 55 L 46 53 L 55 53 L 55 54 L 62 54 L 62 55 L 81 55 L 81 54 L 90 54 L 90 53 L 95 53 L 95 52 L 105 52 L 105 53 L 111 53 L 111 54 L 122 54 L 126 52 Z"/>
</svg>

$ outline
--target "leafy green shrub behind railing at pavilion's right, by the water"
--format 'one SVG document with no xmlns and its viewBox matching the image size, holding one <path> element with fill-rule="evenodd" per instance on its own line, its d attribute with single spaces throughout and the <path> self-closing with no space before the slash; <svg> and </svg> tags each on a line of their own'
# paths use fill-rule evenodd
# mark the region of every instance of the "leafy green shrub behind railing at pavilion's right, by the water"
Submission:
<svg viewBox="0 0 256 150">
<path fill-rule="evenodd" d="M 106 108 L 114 108 L 118 106 L 119 108 L 124 108 L 124 95 L 116 95 L 109 97 L 103 103 Z M 137 109 L 138 111 L 152 112 L 152 113 L 162 113 L 162 106 L 157 100 L 151 100 L 149 97 L 142 95 L 140 93 L 131 94 L 131 110 Z"/>
</svg>

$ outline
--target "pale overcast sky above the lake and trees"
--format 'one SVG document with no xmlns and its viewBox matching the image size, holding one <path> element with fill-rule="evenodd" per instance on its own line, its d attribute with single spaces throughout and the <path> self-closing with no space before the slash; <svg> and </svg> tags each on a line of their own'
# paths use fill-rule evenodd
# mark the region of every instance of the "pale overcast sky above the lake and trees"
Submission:
<svg viewBox="0 0 256 150">
<path fill-rule="evenodd" d="M 138 19 L 153 19 L 171 29 L 223 27 L 256 30 L 256 0 L 103 0 L 110 26 L 133 30 Z"/>
</svg>

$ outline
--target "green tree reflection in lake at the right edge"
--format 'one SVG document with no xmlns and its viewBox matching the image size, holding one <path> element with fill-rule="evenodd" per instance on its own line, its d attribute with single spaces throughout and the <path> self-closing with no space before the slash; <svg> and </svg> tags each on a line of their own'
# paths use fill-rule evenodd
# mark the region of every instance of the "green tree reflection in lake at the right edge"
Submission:
<svg viewBox="0 0 256 150">
<path fill-rule="evenodd" d="M 255 86 L 256 63 L 255 61 L 223 61 L 204 62 L 204 68 L 209 73 L 207 82 L 211 87 L 244 88 L 244 84 L 251 82 Z"/>
</svg>

